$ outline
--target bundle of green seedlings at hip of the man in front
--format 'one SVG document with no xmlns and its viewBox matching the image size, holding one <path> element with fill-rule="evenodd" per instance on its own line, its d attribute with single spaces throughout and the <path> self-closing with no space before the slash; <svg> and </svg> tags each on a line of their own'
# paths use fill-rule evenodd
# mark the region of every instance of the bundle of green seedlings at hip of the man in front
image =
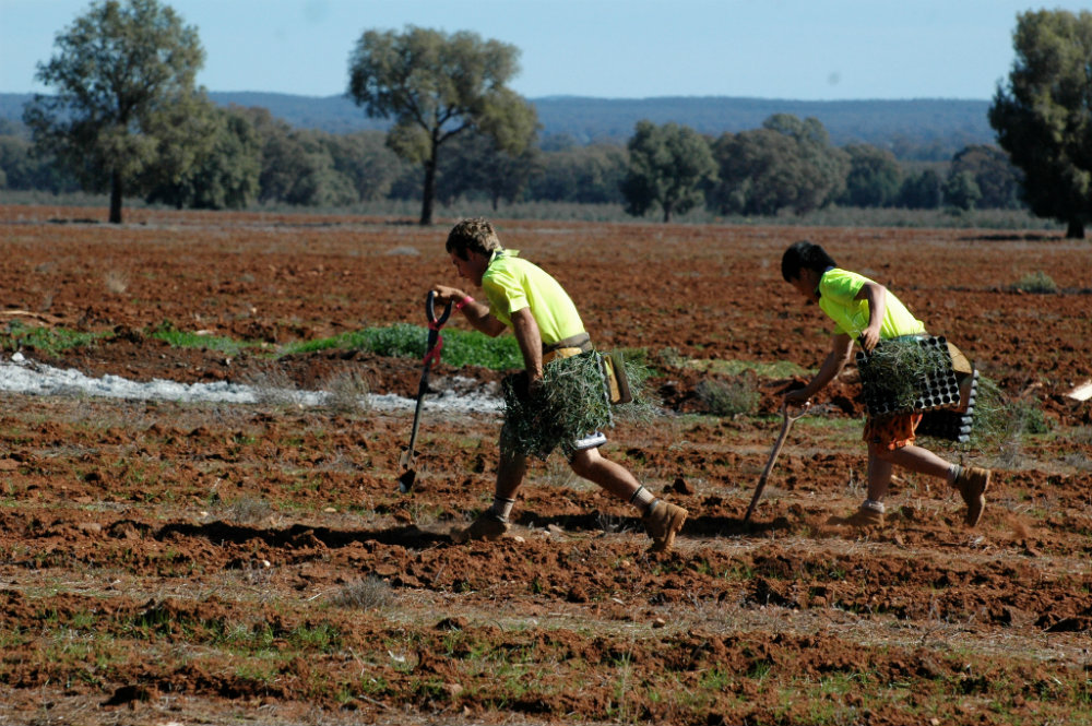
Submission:
<svg viewBox="0 0 1092 726">
<path fill-rule="evenodd" d="M 614 426 L 615 410 L 630 420 L 650 417 L 655 406 L 644 392 L 648 370 L 626 360 L 625 371 L 632 401 L 618 406 L 610 403 L 596 352 L 547 364 L 543 385 L 533 392 L 525 372 L 509 376 L 503 381 L 506 435 L 517 450 L 545 461 L 558 448 L 571 455 L 573 442 Z"/>
</svg>

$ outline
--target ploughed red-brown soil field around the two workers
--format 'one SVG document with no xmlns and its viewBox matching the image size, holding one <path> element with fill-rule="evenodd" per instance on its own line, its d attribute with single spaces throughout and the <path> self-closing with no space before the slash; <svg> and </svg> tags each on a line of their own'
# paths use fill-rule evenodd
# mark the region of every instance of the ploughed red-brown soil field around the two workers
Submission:
<svg viewBox="0 0 1092 726">
<path fill-rule="evenodd" d="M 112 333 L 26 358 L 142 381 L 275 370 L 311 390 L 354 371 L 373 393 L 412 397 L 418 360 L 270 353 L 423 325 L 429 285 L 465 283 L 443 251 L 447 225 L 104 216 L 0 206 L 0 321 Z M 565 285 L 597 347 L 644 348 L 656 362 L 662 415 L 620 421 L 604 453 L 690 510 L 675 550 L 648 555 L 633 511 L 556 455 L 532 466 L 514 537 L 453 544 L 450 531 L 491 497 L 494 415 L 426 404 L 417 486 L 403 496 L 410 409 L 0 393 L 0 723 L 909 726 L 1092 714 L 1092 414 L 1066 395 L 1092 379 L 1092 245 L 981 229 L 497 226 Z M 699 383 L 735 377 L 686 361 L 818 368 L 830 324 L 780 273 L 798 239 L 887 285 L 1012 401 L 1043 412 L 1046 433 L 941 452 L 995 471 L 975 529 L 938 480 L 898 471 L 886 526 L 830 523 L 864 496 L 852 369 L 793 428 L 743 522 L 794 379 L 760 372 L 748 379 L 758 410 L 722 418 Z M 1057 293 L 1014 288 L 1038 272 Z M 164 322 L 268 346 L 174 348 L 147 334 Z M 456 314 L 449 328 L 467 325 Z M 431 383 L 490 390 L 500 376 L 441 360 Z"/>
</svg>

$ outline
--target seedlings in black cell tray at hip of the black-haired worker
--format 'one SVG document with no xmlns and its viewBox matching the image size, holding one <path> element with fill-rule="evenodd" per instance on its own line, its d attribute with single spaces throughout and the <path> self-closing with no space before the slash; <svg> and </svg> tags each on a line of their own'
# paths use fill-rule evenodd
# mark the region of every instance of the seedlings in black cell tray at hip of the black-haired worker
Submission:
<svg viewBox="0 0 1092 726">
<path fill-rule="evenodd" d="M 959 385 L 943 337 L 907 335 L 857 353 L 865 406 L 871 416 L 959 405 Z"/>
</svg>

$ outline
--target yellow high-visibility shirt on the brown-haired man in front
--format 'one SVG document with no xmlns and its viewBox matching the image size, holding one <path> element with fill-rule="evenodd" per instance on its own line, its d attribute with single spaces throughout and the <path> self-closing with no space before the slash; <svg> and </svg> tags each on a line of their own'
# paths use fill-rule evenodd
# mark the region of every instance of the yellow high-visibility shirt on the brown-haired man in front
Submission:
<svg viewBox="0 0 1092 726">
<path fill-rule="evenodd" d="M 515 250 L 498 250 L 482 276 L 489 312 L 506 325 L 512 313 L 531 308 L 543 345 L 584 332 L 577 306 L 560 283 L 542 267 L 519 257 Z"/>
</svg>

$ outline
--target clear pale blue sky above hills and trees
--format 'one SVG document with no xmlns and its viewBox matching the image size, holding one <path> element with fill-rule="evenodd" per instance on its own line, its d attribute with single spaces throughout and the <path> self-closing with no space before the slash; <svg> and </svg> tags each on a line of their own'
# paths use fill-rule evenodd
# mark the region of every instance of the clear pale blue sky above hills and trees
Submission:
<svg viewBox="0 0 1092 726">
<path fill-rule="evenodd" d="M 164 0 L 161 0 L 164 1 Z M 989 99 L 1012 67 L 1010 0 L 175 0 L 210 91 L 345 92 L 367 29 L 473 31 L 521 50 L 527 98 Z M 0 92 L 90 0 L 0 0 Z M 1077 12 L 1088 2 L 1054 2 Z"/>
</svg>

